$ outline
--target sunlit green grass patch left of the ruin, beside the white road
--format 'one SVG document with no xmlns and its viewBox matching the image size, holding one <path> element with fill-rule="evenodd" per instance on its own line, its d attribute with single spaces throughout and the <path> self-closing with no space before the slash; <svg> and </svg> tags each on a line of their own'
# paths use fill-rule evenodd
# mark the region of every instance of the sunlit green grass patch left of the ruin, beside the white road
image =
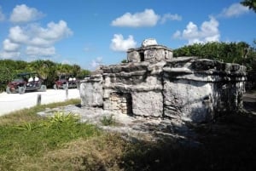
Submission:
<svg viewBox="0 0 256 171">
<path fill-rule="evenodd" d="M 0 170 L 20 170 L 20 167 L 32 164 L 27 164 L 31 158 L 60 149 L 72 140 L 87 140 L 100 134 L 96 126 L 79 123 L 73 114 L 55 113 L 54 117 L 32 123 L 1 125 Z"/>
</svg>

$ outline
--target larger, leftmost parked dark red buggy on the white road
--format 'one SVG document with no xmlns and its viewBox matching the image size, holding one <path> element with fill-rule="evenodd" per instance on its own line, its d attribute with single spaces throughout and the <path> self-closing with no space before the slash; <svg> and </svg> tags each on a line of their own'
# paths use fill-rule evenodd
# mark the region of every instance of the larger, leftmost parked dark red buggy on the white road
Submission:
<svg viewBox="0 0 256 171">
<path fill-rule="evenodd" d="M 17 74 L 14 80 L 9 82 L 6 93 L 24 94 L 27 91 L 46 91 L 46 85 L 43 84 L 44 79 L 38 76 L 36 72 L 24 72 Z"/>
</svg>

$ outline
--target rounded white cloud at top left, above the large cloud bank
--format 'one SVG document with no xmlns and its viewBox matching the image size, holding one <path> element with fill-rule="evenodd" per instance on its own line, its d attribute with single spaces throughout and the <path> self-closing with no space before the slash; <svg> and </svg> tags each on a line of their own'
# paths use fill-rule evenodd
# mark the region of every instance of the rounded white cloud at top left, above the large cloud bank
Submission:
<svg viewBox="0 0 256 171">
<path fill-rule="evenodd" d="M 10 21 L 14 23 L 29 22 L 38 20 L 43 16 L 44 14 L 38 11 L 38 9 L 29 8 L 26 4 L 21 4 L 13 9 L 12 14 L 10 15 Z"/>
</svg>

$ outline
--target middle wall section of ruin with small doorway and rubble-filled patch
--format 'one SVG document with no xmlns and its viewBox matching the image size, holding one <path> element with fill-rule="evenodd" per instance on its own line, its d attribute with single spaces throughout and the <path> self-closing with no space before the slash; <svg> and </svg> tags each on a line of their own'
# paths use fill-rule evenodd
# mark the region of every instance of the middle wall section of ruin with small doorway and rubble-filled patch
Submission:
<svg viewBox="0 0 256 171">
<path fill-rule="evenodd" d="M 103 109 L 143 117 L 162 117 L 160 77 L 165 63 L 103 67 Z"/>
</svg>

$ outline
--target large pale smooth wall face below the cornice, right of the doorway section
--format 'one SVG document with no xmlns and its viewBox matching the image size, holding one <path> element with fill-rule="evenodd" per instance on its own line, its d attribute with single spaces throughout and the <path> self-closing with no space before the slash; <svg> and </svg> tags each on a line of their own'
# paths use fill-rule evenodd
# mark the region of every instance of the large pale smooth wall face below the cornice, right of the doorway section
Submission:
<svg viewBox="0 0 256 171">
<path fill-rule="evenodd" d="M 212 84 L 165 78 L 164 115 L 197 123 L 213 118 Z"/>
</svg>

